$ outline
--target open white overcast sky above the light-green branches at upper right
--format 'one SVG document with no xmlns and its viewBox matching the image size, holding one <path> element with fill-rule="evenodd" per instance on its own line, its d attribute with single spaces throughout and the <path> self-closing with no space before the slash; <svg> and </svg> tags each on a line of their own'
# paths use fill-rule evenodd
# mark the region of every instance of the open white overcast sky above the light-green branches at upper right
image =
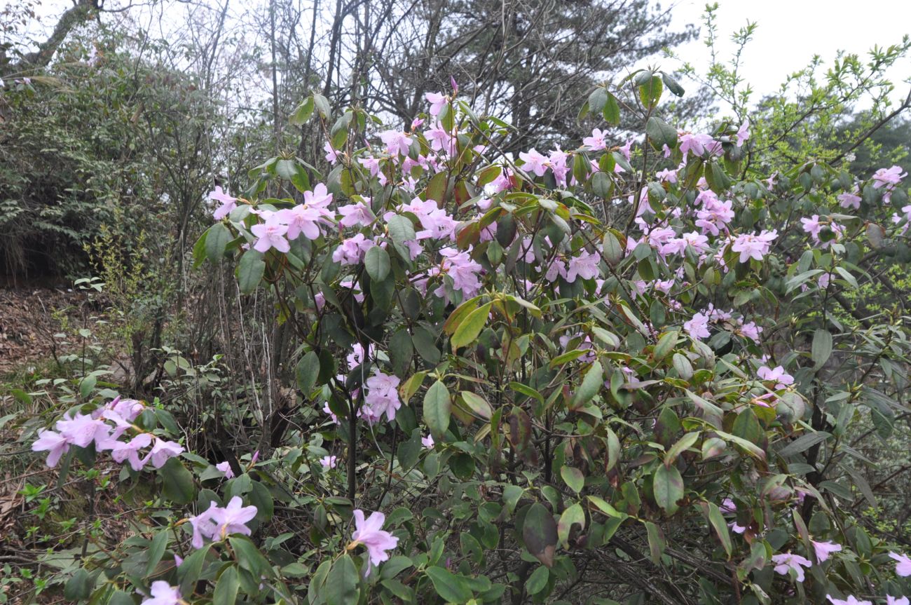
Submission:
<svg viewBox="0 0 911 605">
<path fill-rule="evenodd" d="M 668 5 L 667 0 L 662 5 Z M 679 46 L 676 53 L 697 70 L 709 65 L 704 46 L 705 28 L 701 16 L 705 0 L 674 0 L 673 26 L 688 23 L 701 28 L 701 39 Z M 777 90 L 785 77 L 810 62 L 814 55 L 829 67 L 839 50 L 865 53 L 874 45 L 899 44 L 911 35 L 911 0 L 718 0 L 717 23 L 721 57 L 728 58 L 734 46 L 731 34 L 746 25 L 757 24 L 753 41 L 742 56 L 742 75 L 755 90 L 754 100 Z M 893 100 L 906 97 L 911 84 L 911 57 L 889 73 L 896 90 Z"/>
</svg>

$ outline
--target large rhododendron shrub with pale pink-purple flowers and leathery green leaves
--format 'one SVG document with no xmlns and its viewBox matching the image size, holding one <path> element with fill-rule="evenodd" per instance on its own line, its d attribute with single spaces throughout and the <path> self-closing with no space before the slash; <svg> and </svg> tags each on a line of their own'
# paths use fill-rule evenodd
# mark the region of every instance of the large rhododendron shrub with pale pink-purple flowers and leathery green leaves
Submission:
<svg viewBox="0 0 911 605">
<path fill-rule="evenodd" d="M 455 90 L 402 130 L 306 99 L 292 121 L 320 121 L 331 170 L 275 158 L 249 190 L 216 190 L 195 256 L 274 302 L 309 413 L 236 468 L 120 404 L 41 433 L 52 466 L 109 449 L 95 464 L 159 488 L 148 527 L 86 559 L 99 602 L 911 591 L 902 549 L 852 513 L 873 496 L 844 445 L 901 409 L 887 393 L 906 325 L 849 295 L 871 260 L 900 260 L 904 210 L 875 240 L 864 212 L 904 203 L 906 175 L 762 174 L 748 122 L 678 131 L 657 109 L 676 82 L 640 71 L 630 87 L 643 135 L 601 124 L 517 157 L 499 150 L 508 125 Z M 619 111 L 599 88 L 582 116 Z M 280 510 L 306 531 L 282 532 Z"/>
</svg>

